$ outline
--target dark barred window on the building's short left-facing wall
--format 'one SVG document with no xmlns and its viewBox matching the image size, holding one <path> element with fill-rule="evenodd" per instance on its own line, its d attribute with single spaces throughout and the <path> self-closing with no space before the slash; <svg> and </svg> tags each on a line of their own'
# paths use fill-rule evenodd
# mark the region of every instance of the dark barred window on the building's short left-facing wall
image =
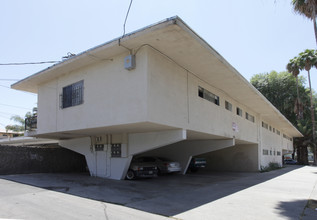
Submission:
<svg viewBox="0 0 317 220">
<path fill-rule="evenodd" d="M 63 88 L 62 108 L 80 105 L 83 103 L 84 81 L 71 84 Z"/>
</svg>

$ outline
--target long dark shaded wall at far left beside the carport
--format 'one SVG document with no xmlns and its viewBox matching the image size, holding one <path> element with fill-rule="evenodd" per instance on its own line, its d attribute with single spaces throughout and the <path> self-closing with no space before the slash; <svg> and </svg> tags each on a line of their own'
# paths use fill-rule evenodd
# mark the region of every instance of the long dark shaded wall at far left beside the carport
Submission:
<svg viewBox="0 0 317 220">
<path fill-rule="evenodd" d="M 83 155 L 60 146 L 0 146 L 0 175 L 85 172 L 86 166 Z"/>
</svg>

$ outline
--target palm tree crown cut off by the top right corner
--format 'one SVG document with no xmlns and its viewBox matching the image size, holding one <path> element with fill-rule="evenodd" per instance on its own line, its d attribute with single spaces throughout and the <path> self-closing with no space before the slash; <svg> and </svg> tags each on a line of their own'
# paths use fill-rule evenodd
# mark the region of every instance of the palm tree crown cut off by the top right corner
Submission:
<svg viewBox="0 0 317 220">
<path fill-rule="evenodd" d="M 311 19 L 314 24 L 315 39 L 317 44 L 317 26 L 316 26 L 316 14 L 317 14 L 317 0 L 292 0 L 294 11 L 300 15 Z"/>
</svg>

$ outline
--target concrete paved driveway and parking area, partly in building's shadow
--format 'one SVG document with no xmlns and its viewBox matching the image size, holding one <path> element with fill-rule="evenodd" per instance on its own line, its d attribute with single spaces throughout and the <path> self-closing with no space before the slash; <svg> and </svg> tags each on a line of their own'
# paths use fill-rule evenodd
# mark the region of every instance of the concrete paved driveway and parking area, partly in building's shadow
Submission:
<svg viewBox="0 0 317 220">
<path fill-rule="evenodd" d="M 0 219 L 317 219 L 316 182 L 309 166 L 135 181 L 7 175 L 0 176 Z"/>
</svg>

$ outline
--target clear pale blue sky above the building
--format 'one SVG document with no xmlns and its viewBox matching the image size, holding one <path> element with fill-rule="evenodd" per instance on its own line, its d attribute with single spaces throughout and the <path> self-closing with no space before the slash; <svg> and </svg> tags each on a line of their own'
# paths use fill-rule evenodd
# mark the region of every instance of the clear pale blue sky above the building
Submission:
<svg viewBox="0 0 317 220">
<path fill-rule="evenodd" d="M 285 71 L 289 59 L 315 49 L 313 24 L 291 0 L 134 0 L 126 33 L 178 15 L 247 80 Z M 59 61 L 123 34 L 130 0 L 0 1 L 0 63 Z M 0 128 L 36 106 L 37 96 L 10 89 L 49 65 L 0 66 Z M 307 73 L 301 73 L 307 77 Z M 317 71 L 312 73 L 317 90 Z"/>
</svg>

